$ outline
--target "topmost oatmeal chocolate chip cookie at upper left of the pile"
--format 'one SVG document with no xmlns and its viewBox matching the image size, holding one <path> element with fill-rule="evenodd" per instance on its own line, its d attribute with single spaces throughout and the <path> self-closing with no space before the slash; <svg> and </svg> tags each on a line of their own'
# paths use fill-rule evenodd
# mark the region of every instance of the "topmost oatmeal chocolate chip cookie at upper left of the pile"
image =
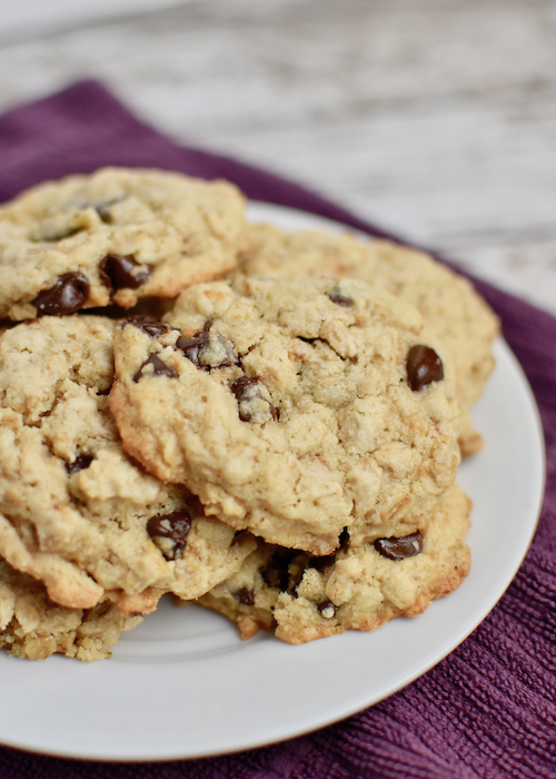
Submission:
<svg viewBox="0 0 556 779">
<path fill-rule="evenodd" d="M 245 201 L 226 181 L 105 168 L 0 207 L 0 318 L 175 297 L 237 264 Z"/>
</svg>

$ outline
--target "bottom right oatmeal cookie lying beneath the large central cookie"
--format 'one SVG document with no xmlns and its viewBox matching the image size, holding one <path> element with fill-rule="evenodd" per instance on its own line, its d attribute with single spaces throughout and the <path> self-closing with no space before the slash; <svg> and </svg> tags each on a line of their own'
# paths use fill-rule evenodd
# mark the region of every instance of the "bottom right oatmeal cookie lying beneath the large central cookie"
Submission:
<svg viewBox="0 0 556 779">
<path fill-rule="evenodd" d="M 288 643 L 416 617 L 467 575 L 469 510 L 470 501 L 453 485 L 426 530 L 405 538 L 353 546 L 346 535 L 325 558 L 260 543 L 238 573 L 198 602 L 235 621 L 244 639 L 270 628 Z"/>
</svg>

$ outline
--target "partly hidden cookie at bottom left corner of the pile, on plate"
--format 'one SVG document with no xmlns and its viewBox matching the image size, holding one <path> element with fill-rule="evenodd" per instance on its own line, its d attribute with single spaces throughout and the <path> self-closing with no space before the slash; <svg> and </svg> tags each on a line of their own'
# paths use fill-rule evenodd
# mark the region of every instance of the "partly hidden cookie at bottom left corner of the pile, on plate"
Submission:
<svg viewBox="0 0 556 779">
<path fill-rule="evenodd" d="M 0 648 L 17 658 L 44 660 L 59 653 L 90 661 L 111 655 L 120 634 L 142 617 L 122 617 L 109 600 L 92 609 L 53 603 L 32 576 L 0 559 Z"/>
</svg>

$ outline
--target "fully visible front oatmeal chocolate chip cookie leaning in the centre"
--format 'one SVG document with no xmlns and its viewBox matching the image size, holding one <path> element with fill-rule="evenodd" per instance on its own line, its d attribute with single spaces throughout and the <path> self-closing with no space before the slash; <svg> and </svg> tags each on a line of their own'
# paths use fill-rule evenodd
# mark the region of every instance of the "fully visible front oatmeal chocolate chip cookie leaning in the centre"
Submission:
<svg viewBox="0 0 556 779">
<path fill-rule="evenodd" d="M 197 285 L 165 324 L 116 329 L 110 407 L 130 454 L 208 514 L 328 554 L 345 526 L 358 543 L 409 533 L 454 482 L 437 349 L 411 306 L 363 282 Z"/>
</svg>

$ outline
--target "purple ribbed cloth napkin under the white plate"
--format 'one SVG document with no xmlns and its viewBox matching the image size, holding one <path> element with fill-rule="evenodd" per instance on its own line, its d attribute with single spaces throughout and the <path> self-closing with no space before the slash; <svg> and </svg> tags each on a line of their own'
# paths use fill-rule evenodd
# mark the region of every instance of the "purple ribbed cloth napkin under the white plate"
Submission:
<svg viewBox="0 0 556 779">
<path fill-rule="evenodd" d="M 103 165 L 228 178 L 250 198 L 396 238 L 296 184 L 175 145 L 95 81 L 0 117 L 0 200 L 44 179 Z M 538 531 L 514 582 L 480 627 L 414 684 L 309 736 L 228 757 L 140 765 L 0 748 L 1 779 L 556 777 L 556 319 L 484 283 L 477 286 L 502 317 L 504 335 L 528 376 L 547 448 Z"/>
</svg>

